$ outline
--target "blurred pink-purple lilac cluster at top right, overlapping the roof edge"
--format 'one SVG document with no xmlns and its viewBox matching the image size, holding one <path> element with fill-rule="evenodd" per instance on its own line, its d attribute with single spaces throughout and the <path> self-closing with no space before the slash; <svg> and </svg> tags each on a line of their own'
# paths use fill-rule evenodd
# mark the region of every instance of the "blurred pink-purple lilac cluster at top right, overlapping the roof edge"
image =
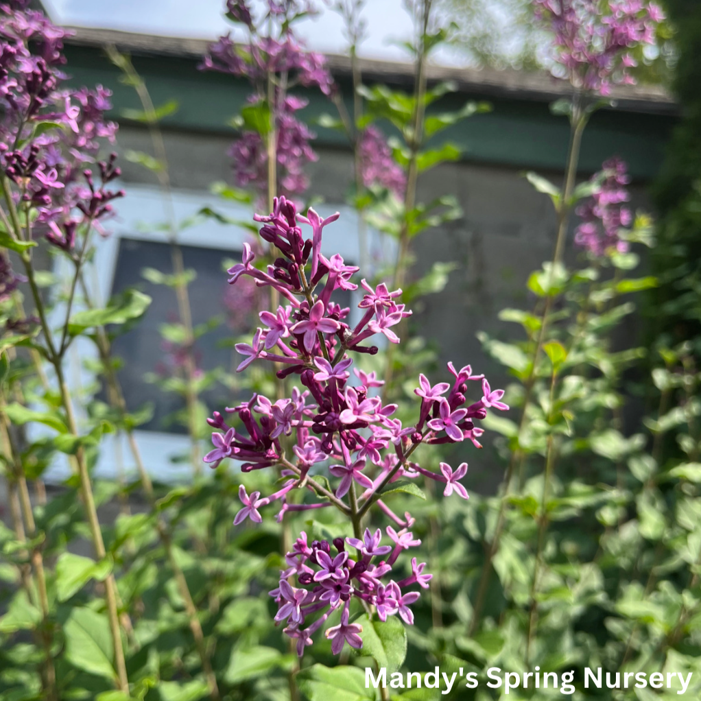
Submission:
<svg viewBox="0 0 701 701">
<path fill-rule="evenodd" d="M 632 50 L 655 43 L 665 15 L 644 0 L 534 0 L 555 34 L 556 60 L 573 86 L 608 95 L 613 84 L 635 83 Z"/>
</svg>

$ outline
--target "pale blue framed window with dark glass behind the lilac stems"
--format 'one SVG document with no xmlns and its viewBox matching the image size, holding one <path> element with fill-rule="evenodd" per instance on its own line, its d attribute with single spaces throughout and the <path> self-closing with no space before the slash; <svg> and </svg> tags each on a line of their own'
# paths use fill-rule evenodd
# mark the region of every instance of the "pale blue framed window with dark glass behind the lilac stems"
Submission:
<svg viewBox="0 0 701 701">
<path fill-rule="evenodd" d="M 174 292 L 169 287 L 153 285 L 142 277 L 142 270 L 147 267 L 164 273 L 172 271 L 168 234 L 162 226 L 165 219 L 163 196 L 158 189 L 146 186 L 127 184 L 125 190 L 127 195 L 116 206 L 119 217 L 109 223 L 111 236 L 96 243 L 93 264 L 86 271 L 88 285 L 93 290 L 93 297 L 102 302 L 111 294 L 135 284 L 153 299 L 142 322 L 116 339 L 114 355 L 124 361 L 120 374 L 129 410 L 136 411 L 144 402 L 154 402 L 156 406 L 151 421 L 135 431 L 145 464 L 157 479 L 182 479 L 190 474 L 190 467 L 174 462 L 173 458 L 187 453 L 189 437 L 182 433 L 182 429 L 168 425 L 166 420 L 168 414 L 178 408 L 178 397 L 163 393 L 154 384 L 144 381 L 144 374 L 157 372 L 168 361 L 159 327 L 177 318 Z M 215 196 L 207 193 L 177 191 L 173 195 L 173 204 L 179 222 L 193 217 L 205 206 L 212 206 L 229 219 L 249 222 L 252 218 L 250 208 L 217 202 Z M 323 216 L 341 211 L 340 219 L 325 229 L 325 254 L 340 253 L 349 263 L 358 261 L 360 251 L 355 212 L 345 205 L 320 205 L 316 208 Z M 219 341 L 245 333 L 245 326 L 257 318 L 257 309 L 254 308 L 257 305 L 240 297 L 236 286 L 227 285 L 222 267 L 225 259 L 240 260 L 247 236 L 243 227 L 221 224 L 216 219 L 205 219 L 179 233 L 184 265 L 197 273 L 196 280 L 189 287 L 193 322 L 205 323 L 217 315 L 226 320 L 224 325 L 198 343 L 198 361 L 204 369 L 217 365 L 231 367 L 233 362 L 238 365 L 238 354 Z M 391 242 L 383 240 L 376 232 L 369 232 L 368 243 L 373 252 L 372 259 L 378 264 L 393 254 Z M 358 299 L 357 293 L 334 294 L 334 301 L 351 306 L 351 322 L 358 318 Z M 250 316 L 246 315 L 246 309 L 250 310 Z M 90 379 L 81 370 L 82 360 L 90 356 L 95 356 L 92 344 L 84 339 L 76 342 L 67 373 L 72 389 L 79 390 Z M 231 406 L 236 401 L 231 391 L 222 386 L 205 393 L 203 399 L 210 407 Z M 58 479 L 66 475 L 67 469 L 65 464 L 56 465 L 50 474 Z M 117 444 L 114 436 L 106 436 L 96 471 L 103 476 L 132 472 L 130 452 L 125 442 Z"/>
</svg>

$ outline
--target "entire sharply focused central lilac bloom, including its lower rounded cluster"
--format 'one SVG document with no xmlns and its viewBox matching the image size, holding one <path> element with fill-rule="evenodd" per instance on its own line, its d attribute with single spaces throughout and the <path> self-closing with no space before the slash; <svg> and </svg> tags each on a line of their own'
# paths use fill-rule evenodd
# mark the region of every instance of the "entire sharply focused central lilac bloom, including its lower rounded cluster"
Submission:
<svg viewBox="0 0 701 701">
<path fill-rule="evenodd" d="M 411 311 L 400 302 L 402 290 L 390 292 L 383 283 L 372 287 L 367 280 L 361 280 L 365 294 L 358 304 L 357 322 L 351 323 L 349 308 L 334 302 L 336 290 L 358 290 L 352 282 L 358 268 L 346 265 L 339 254 L 326 258 L 321 253 L 323 230 L 338 217 L 321 219 L 311 208 L 304 217 L 284 196 L 275 198 L 270 215 L 254 217 L 263 224 L 261 238 L 281 256 L 262 271 L 254 266 L 256 256 L 245 245 L 242 262 L 229 269 L 229 282 L 236 285 L 245 277 L 252 278 L 260 287 L 274 288 L 285 306 L 278 306 L 274 313 L 260 312 L 263 326 L 257 328 L 252 342 L 236 346 L 244 358 L 238 371 L 257 360 L 272 362 L 280 368 L 279 379 L 298 375 L 302 388 L 292 388 L 289 397 L 275 402 L 254 395 L 238 407 L 227 408 L 226 414 L 234 421 L 218 411 L 207 420 L 218 431 L 212 435 L 215 448 L 205 456 L 206 463 L 216 467 L 225 458 L 233 458 L 240 461 L 244 474 L 278 466 L 286 478 L 275 494 L 263 497 L 257 491 L 248 494 L 242 485 L 243 509 L 236 515 L 236 524 L 245 519 L 260 523 L 261 510 L 273 503 L 278 503 L 278 521 L 287 512 L 335 506 L 353 524 L 355 537 L 337 538 L 333 543 L 308 543 L 303 532 L 286 555 L 288 568 L 280 573 L 280 585 L 271 595 L 280 607 L 276 620 L 286 621 L 285 632 L 297 639 L 300 654 L 337 609 L 341 609 L 341 624 L 326 631 L 334 653 L 341 651 L 344 641 L 361 646 L 359 626 L 348 624 L 354 598 L 376 607 L 381 620 L 398 613 L 404 622 L 413 621 L 409 604 L 418 599 L 418 592 L 406 591 L 407 587 L 426 588 L 430 575 L 423 574 L 424 563 L 413 559 L 411 576 L 400 581 L 393 578 L 401 551 L 420 541 L 409 531 L 414 524 L 411 515 L 396 515 L 383 501 L 383 494 L 388 486 L 416 491 L 414 484 L 423 477 L 444 484 L 446 496 L 455 492 L 467 499 L 459 482 L 467 463 L 456 470 L 440 463 L 440 470 L 434 471 L 411 457 L 421 444 L 467 440 L 481 447 L 477 439 L 483 430 L 476 422 L 486 416 L 489 407 L 508 409 L 501 402 L 503 390 L 491 390 L 484 376 L 472 374 L 469 365 L 456 370 L 451 362 L 451 382 L 431 386 L 426 376 L 419 377 L 415 393 L 421 404 L 411 425 L 404 426 L 395 416 L 396 404 L 386 404 L 374 393 L 383 380 L 352 368 L 351 354 L 377 353 L 378 346 L 371 344 L 376 334 L 399 343 L 393 329 Z M 311 228 L 311 238 L 305 240 L 301 224 Z M 476 381 L 471 386 L 482 390 L 473 402 L 467 397 L 470 381 Z M 407 483 L 409 487 L 404 486 Z M 300 490 L 311 498 L 297 503 L 300 500 L 292 496 Z M 372 505 L 393 522 L 386 528 L 393 545 L 381 544 L 379 529 L 374 533 L 366 529 L 360 537 L 362 518 Z M 291 578 L 297 578 L 297 586 L 290 584 Z M 311 615 L 318 618 L 309 624 Z"/>
</svg>

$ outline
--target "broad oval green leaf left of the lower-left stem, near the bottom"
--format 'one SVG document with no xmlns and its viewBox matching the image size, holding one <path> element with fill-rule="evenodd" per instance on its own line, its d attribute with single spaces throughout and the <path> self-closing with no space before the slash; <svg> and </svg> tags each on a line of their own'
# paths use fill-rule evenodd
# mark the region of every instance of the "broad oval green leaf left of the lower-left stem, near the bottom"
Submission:
<svg viewBox="0 0 701 701">
<path fill-rule="evenodd" d="M 84 672 L 114 680 L 114 648 L 107 617 L 90 608 L 76 606 L 63 625 L 64 658 Z"/>
</svg>

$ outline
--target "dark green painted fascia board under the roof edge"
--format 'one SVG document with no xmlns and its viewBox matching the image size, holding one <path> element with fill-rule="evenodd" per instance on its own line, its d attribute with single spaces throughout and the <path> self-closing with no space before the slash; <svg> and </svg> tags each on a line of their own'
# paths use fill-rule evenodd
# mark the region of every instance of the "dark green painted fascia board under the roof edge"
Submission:
<svg viewBox="0 0 701 701">
<path fill-rule="evenodd" d="M 67 71 L 74 85 L 102 83 L 114 92 L 114 118 L 125 107 L 139 108 L 131 88 L 119 82 L 117 69 L 100 50 L 67 46 Z M 178 111 L 163 121 L 164 127 L 198 132 L 230 132 L 227 122 L 243 105 L 250 88 L 246 81 L 216 72 L 200 72 L 189 57 L 135 56 L 134 64 L 147 82 L 156 105 L 168 100 L 179 102 Z M 346 99 L 349 86 L 342 85 Z M 320 93 L 299 90 L 309 99 L 305 118 L 314 119 L 334 106 Z M 547 104 L 532 100 L 489 98 L 459 93 L 447 95 L 438 109 L 455 109 L 465 100 L 487 100 L 494 109 L 474 116 L 443 132 L 464 151 L 465 161 L 491 163 L 513 168 L 562 170 L 569 125 L 565 118 L 550 114 Z M 637 114 L 625 111 L 599 111 L 585 135 L 581 170 L 593 172 L 614 154 L 625 158 L 636 179 L 655 177 L 664 156 L 665 144 L 676 123 L 671 115 Z M 316 128 L 318 143 L 343 146 L 343 135 L 334 130 Z M 443 138 L 443 136 L 442 136 Z"/>
</svg>

